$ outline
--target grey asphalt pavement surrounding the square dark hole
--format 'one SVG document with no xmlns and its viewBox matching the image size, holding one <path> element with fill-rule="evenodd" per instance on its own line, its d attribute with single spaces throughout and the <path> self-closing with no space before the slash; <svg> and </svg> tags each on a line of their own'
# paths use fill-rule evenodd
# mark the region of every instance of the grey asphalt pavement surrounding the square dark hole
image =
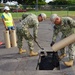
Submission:
<svg viewBox="0 0 75 75">
<path fill-rule="evenodd" d="M 15 25 L 18 25 L 18 23 L 19 21 L 15 21 Z M 0 41 L 4 42 L 3 30 L 3 24 L 0 22 Z M 32 34 L 32 30 L 30 31 Z M 52 50 L 50 47 L 52 35 L 53 27 L 49 19 L 41 22 L 38 32 L 38 42 L 44 50 Z M 36 43 L 34 46 L 34 51 L 38 52 L 40 48 Z M 73 67 L 65 67 L 62 61 L 60 61 L 60 70 L 36 70 L 38 56 L 29 57 L 26 40 L 23 41 L 23 49 L 26 49 L 27 52 L 19 55 L 17 47 L 6 49 L 5 45 L 0 46 L 0 75 L 75 75 L 75 65 Z"/>
</svg>

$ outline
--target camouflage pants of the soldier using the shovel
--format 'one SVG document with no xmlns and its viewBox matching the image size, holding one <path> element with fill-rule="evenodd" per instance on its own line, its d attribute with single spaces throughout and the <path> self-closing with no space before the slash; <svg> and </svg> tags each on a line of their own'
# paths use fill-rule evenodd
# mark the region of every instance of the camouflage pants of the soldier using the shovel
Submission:
<svg viewBox="0 0 75 75">
<path fill-rule="evenodd" d="M 34 49 L 34 43 L 33 43 L 33 37 L 30 34 L 28 29 L 16 29 L 16 34 L 17 34 L 17 45 L 18 48 L 22 48 L 22 41 L 23 38 L 27 40 L 28 42 L 28 46 L 29 46 L 29 50 L 33 50 Z"/>
</svg>

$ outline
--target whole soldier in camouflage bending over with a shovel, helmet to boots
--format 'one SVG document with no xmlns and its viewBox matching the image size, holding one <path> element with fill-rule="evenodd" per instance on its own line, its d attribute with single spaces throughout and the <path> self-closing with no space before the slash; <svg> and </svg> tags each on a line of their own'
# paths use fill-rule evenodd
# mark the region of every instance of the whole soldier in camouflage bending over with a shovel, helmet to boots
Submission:
<svg viewBox="0 0 75 75">
<path fill-rule="evenodd" d="M 30 56 L 36 56 L 38 55 L 37 52 L 34 52 L 34 43 L 33 41 L 36 41 L 37 38 L 37 32 L 38 32 L 38 26 L 39 22 L 46 19 L 46 14 L 41 13 L 38 15 L 38 17 L 35 14 L 23 14 L 22 20 L 20 24 L 16 27 L 16 33 L 17 33 L 17 44 L 19 48 L 19 53 L 22 54 L 26 52 L 26 50 L 22 49 L 22 41 L 23 38 L 25 38 L 28 42 L 29 50 L 30 50 Z M 29 32 L 29 28 L 33 28 L 33 37 Z"/>
</svg>

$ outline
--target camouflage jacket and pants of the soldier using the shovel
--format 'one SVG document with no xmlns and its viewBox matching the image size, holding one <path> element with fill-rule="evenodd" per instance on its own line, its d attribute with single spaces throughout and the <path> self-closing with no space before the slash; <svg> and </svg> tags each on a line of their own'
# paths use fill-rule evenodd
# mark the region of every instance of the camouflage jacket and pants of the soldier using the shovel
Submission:
<svg viewBox="0 0 75 75">
<path fill-rule="evenodd" d="M 33 37 L 29 32 L 29 28 L 33 28 L 33 36 L 34 38 L 37 38 L 39 25 L 37 16 L 34 14 L 26 14 L 25 18 L 23 17 L 22 19 L 23 20 L 16 27 L 18 48 L 22 48 L 22 40 L 25 38 L 28 42 L 29 50 L 33 50 Z"/>
</svg>

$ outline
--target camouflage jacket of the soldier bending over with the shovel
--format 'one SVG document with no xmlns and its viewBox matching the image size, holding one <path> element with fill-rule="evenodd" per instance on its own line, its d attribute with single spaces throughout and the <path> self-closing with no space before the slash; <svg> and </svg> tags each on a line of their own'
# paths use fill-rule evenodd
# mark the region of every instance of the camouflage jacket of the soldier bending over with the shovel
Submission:
<svg viewBox="0 0 75 75">
<path fill-rule="evenodd" d="M 23 15 L 22 15 L 22 18 L 23 18 Z M 17 28 L 23 29 L 23 30 L 33 28 L 33 36 L 37 37 L 38 26 L 39 26 L 39 22 L 38 22 L 37 16 L 31 13 L 31 14 L 26 14 L 25 18 L 23 18 L 20 24 L 17 25 Z"/>
</svg>

